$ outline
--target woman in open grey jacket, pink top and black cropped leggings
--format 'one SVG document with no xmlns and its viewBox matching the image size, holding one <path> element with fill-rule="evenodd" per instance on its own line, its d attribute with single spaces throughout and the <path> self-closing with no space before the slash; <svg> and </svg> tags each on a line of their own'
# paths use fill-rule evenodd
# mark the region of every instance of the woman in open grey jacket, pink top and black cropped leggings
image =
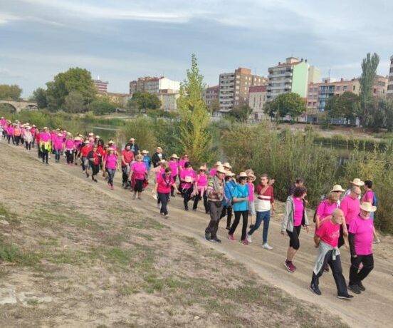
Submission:
<svg viewBox="0 0 393 328">
<path fill-rule="evenodd" d="M 284 263 L 286 270 L 289 272 L 295 272 L 296 270 L 292 260 L 300 247 L 299 235 L 302 225 L 305 226 L 307 232 L 309 231 L 304 200 L 306 195 L 307 189 L 305 187 L 296 187 L 293 191 L 293 195 L 288 196 L 285 203 L 281 233 L 285 235 L 286 232 L 290 238 L 287 259 Z"/>
</svg>

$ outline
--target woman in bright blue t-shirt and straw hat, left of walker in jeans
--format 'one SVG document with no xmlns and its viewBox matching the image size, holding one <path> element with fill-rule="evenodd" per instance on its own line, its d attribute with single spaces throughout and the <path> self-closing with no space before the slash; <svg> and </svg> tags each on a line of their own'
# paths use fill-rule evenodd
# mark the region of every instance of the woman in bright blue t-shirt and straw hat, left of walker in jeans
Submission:
<svg viewBox="0 0 393 328">
<path fill-rule="evenodd" d="M 236 227 L 239 225 L 240 217 L 243 217 L 243 226 L 241 228 L 241 239 L 240 242 L 243 245 L 248 245 L 247 237 L 247 224 L 248 224 L 248 200 L 249 200 L 249 191 L 247 185 L 247 173 L 241 172 L 239 174 L 239 183 L 236 185 L 234 193 L 232 194 L 232 200 L 234 202 L 234 213 L 235 220 L 231 225 L 231 229 L 228 232 L 228 239 L 234 239 L 234 233 L 236 231 Z"/>
</svg>

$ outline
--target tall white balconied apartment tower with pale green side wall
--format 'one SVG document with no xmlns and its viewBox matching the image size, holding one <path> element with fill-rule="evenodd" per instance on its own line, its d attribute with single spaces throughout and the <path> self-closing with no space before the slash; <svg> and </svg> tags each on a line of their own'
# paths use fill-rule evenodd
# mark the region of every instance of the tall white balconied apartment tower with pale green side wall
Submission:
<svg viewBox="0 0 393 328">
<path fill-rule="evenodd" d="M 288 57 L 285 63 L 268 68 L 268 73 L 268 101 L 288 92 L 306 98 L 308 83 L 320 81 L 319 69 L 303 58 Z"/>
</svg>

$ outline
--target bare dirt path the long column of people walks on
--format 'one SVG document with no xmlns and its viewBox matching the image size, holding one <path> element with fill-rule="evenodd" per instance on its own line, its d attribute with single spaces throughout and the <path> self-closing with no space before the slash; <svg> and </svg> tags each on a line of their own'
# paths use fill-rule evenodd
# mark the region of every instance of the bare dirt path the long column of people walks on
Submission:
<svg viewBox="0 0 393 328">
<path fill-rule="evenodd" d="M 6 149 L 4 149 L 6 148 Z M 0 151 L 20 152 L 21 156 L 31 157 L 36 160 L 36 153 L 26 154 L 22 148 L 16 149 L 0 143 Z M 36 160 L 33 165 L 42 165 Z M 87 180 L 80 173 L 80 168 L 69 167 L 63 163 L 51 163 L 48 167 L 43 165 L 44 170 L 50 170 L 51 173 L 58 172 L 64 178 L 73 175 L 80 180 Z M 89 180 L 90 182 L 91 180 Z M 283 267 L 285 253 L 288 247 L 288 238 L 280 234 L 280 211 L 273 217 L 269 233 L 269 244 L 274 250 L 269 252 L 261 249 L 261 230 L 256 232 L 253 237 L 253 243 L 249 246 L 243 246 L 239 242 L 231 242 L 226 239 L 226 230 L 224 222 L 219 229 L 219 237 L 223 240 L 221 245 L 206 242 L 204 237 L 204 228 L 206 227 L 209 217 L 200 209 L 197 212 L 185 212 L 182 210 L 182 198 L 174 198 L 169 206 L 169 220 L 163 220 L 158 215 L 158 210 L 154 200 L 150 197 L 150 189 L 143 195 L 143 200 L 131 200 L 131 194 L 120 188 L 121 174 L 116 173 L 115 190 L 109 190 L 105 181 L 101 178 L 99 183 L 91 182 L 91 190 L 100 190 L 109 198 L 126 201 L 135 206 L 135 209 L 144 212 L 145 215 L 157 217 L 165 225 L 169 225 L 179 235 L 196 237 L 201 243 L 208 245 L 219 252 L 226 254 L 237 262 L 241 262 L 256 272 L 261 280 L 266 280 L 271 285 L 279 287 L 285 292 L 290 293 L 298 299 L 313 302 L 329 310 L 334 314 L 340 315 L 342 319 L 352 327 L 386 327 L 393 319 L 393 263 L 387 260 L 391 252 L 391 239 L 386 238 L 382 244 L 375 245 L 376 254 L 374 270 L 365 280 L 366 292 L 355 295 L 351 301 L 337 299 L 335 284 L 331 273 L 325 274 L 320 279 L 320 289 L 323 295 L 318 297 L 308 290 L 312 267 L 315 260 L 316 250 L 313 247 L 312 234 L 305 234 L 302 231 L 300 236 L 300 251 L 295 257 L 295 264 L 298 270 L 291 274 Z M 150 185 L 151 188 L 151 185 Z M 235 237 L 239 240 L 239 230 Z M 347 250 L 342 250 L 342 267 L 344 275 L 347 278 L 350 257 Z"/>
</svg>

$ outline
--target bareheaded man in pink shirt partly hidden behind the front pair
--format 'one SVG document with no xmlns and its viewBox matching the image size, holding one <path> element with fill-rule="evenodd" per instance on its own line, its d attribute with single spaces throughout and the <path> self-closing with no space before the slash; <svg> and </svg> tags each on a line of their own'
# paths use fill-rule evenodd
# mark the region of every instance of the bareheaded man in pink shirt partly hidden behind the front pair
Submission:
<svg viewBox="0 0 393 328">
<path fill-rule="evenodd" d="M 359 195 L 361 190 L 359 187 L 352 187 L 349 195 L 340 203 L 340 210 L 344 213 L 345 220 L 342 222 L 340 228 L 340 239 L 338 240 L 338 247 L 345 244 L 344 237 L 348 236 L 348 228 L 350 227 L 351 221 L 359 215 L 360 212 L 360 200 Z"/>
</svg>

